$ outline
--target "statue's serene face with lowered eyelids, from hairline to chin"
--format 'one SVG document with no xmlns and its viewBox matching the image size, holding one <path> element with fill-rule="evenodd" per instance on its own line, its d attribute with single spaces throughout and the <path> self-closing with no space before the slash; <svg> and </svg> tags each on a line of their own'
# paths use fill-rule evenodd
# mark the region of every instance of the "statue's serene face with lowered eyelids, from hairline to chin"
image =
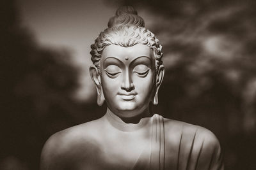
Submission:
<svg viewBox="0 0 256 170">
<path fill-rule="evenodd" d="M 148 111 L 156 87 L 153 51 L 145 45 L 109 45 L 100 59 L 100 81 L 108 108 L 119 117 Z"/>
</svg>

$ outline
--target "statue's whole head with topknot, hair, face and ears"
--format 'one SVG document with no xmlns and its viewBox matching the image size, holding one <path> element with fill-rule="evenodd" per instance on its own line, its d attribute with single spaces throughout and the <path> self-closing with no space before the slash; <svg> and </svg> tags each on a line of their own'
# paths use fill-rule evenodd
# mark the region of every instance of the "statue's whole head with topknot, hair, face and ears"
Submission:
<svg viewBox="0 0 256 170">
<path fill-rule="evenodd" d="M 134 8 L 123 6 L 91 45 L 97 103 L 106 101 L 119 117 L 134 117 L 148 111 L 151 102 L 158 103 L 164 76 L 162 46 L 144 25 Z"/>
</svg>

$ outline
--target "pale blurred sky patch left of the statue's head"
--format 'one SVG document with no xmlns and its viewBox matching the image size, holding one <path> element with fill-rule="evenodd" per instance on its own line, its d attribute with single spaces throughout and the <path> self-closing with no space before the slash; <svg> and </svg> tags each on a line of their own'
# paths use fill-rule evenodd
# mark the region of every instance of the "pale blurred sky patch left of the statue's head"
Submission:
<svg viewBox="0 0 256 170">
<path fill-rule="evenodd" d="M 117 6 L 103 0 L 19 0 L 18 5 L 22 25 L 33 32 L 41 46 L 70 50 L 81 70 L 76 98 L 89 100 L 94 92 L 88 73 L 92 65 L 90 45 L 106 29 Z"/>
</svg>

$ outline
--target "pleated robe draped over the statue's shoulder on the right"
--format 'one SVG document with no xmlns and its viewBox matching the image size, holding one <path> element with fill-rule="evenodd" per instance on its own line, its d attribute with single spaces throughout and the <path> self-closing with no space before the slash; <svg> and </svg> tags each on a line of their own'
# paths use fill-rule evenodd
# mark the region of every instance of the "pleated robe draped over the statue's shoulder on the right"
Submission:
<svg viewBox="0 0 256 170">
<path fill-rule="evenodd" d="M 168 131 L 164 131 L 164 122 Z M 132 169 L 224 169 L 218 139 L 207 129 L 157 114 L 150 126 L 150 143 Z"/>
</svg>

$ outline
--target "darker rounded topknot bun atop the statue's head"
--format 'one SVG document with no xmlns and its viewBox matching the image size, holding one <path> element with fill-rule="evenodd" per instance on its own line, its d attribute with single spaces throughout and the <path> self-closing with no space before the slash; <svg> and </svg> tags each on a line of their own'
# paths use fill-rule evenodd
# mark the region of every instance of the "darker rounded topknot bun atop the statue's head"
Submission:
<svg viewBox="0 0 256 170">
<path fill-rule="evenodd" d="M 137 11 L 132 6 L 121 6 L 116 10 L 116 15 L 111 17 L 108 22 L 109 28 L 124 25 L 145 27 L 143 18 L 138 16 Z"/>
</svg>

